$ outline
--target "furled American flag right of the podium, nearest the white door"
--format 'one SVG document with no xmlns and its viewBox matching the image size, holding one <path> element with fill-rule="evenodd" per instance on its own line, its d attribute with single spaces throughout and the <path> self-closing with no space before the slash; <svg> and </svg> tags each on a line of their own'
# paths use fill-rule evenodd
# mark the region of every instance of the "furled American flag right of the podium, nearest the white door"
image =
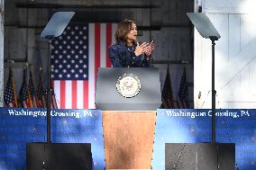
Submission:
<svg viewBox="0 0 256 170">
<path fill-rule="evenodd" d="M 187 74 L 186 74 L 186 67 L 183 69 L 183 74 L 181 76 L 181 81 L 178 89 L 178 98 L 179 98 L 179 105 L 182 108 L 188 109 L 188 86 L 187 86 Z"/>
</svg>

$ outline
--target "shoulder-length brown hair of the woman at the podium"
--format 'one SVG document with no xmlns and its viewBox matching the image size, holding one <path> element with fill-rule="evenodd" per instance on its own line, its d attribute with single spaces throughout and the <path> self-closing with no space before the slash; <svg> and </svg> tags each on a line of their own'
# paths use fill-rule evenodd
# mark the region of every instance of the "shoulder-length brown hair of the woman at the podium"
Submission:
<svg viewBox="0 0 256 170">
<path fill-rule="evenodd" d="M 125 44 L 127 43 L 127 33 L 132 30 L 133 28 L 133 22 L 132 20 L 125 19 L 122 22 L 119 22 L 117 25 L 117 29 L 115 31 L 115 41 L 116 43 L 119 43 L 123 41 Z"/>
</svg>

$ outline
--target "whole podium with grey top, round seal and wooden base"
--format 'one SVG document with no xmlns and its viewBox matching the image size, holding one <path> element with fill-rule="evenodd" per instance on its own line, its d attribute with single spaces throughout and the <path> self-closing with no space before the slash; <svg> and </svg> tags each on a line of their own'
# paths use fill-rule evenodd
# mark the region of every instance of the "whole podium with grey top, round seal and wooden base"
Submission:
<svg viewBox="0 0 256 170">
<path fill-rule="evenodd" d="M 103 116 L 106 170 L 151 169 L 160 103 L 158 68 L 99 68 L 96 107 Z"/>
</svg>

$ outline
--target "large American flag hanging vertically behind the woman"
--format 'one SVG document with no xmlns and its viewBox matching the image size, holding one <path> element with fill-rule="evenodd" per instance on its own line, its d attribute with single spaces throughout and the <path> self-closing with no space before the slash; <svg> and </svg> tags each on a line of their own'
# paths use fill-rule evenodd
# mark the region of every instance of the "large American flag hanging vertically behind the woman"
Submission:
<svg viewBox="0 0 256 170">
<path fill-rule="evenodd" d="M 111 67 L 114 23 L 69 25 L 51 43 L 54 92 L 60 109 L 95 109 L 98 67 Z"/>
</svg>

